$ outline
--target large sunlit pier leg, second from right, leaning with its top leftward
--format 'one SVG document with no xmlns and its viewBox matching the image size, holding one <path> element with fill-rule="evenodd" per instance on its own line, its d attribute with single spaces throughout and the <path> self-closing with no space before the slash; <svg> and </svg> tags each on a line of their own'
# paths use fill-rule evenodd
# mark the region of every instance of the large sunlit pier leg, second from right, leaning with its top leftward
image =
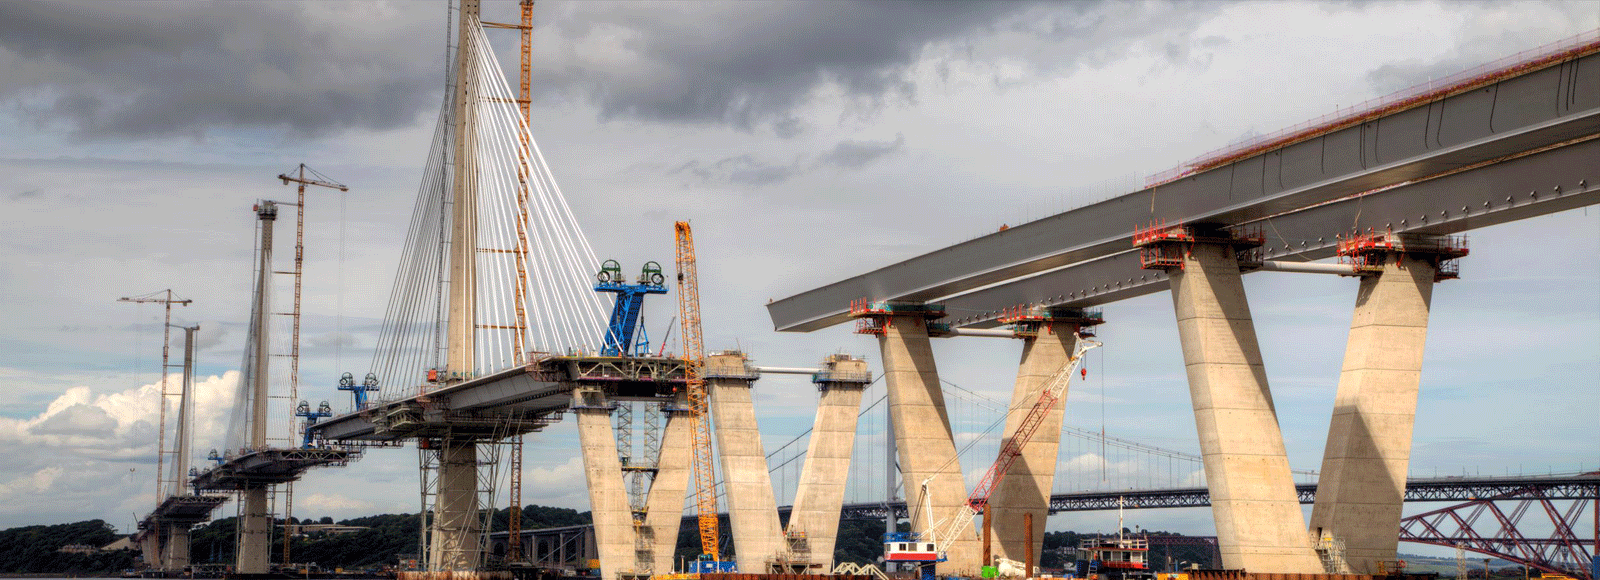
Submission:
<svg viewBox="0 0 1600 580">
<path fill-rule="evenodd" d="M 1170 277 L 1222 567 L 1323 572 L 1306 535 L 1234 247 L 1194 244 Z"/>
</svg>

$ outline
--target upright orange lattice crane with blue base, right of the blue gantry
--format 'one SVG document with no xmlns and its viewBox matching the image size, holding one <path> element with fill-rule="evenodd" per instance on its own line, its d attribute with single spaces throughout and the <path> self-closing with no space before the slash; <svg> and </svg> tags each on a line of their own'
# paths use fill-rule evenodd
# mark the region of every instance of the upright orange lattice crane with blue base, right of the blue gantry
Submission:
<svg viewBox="0 0 1600 580">
<path fill-rule="evenodd" d="M 720 558 L 717 524 L 717 473 L 710 455 L 710 401 L 706 393 L 706 341 L 701 335 L 699 276 L 694 268 L 694 232 L 688 221 L 672 224 L 678 260 L 678 320 L 683 330 L 683 367 L 690 401 L 690 431 L 694 436 L 691 471 L 694 508 L 699 514 L 701 554 L 690 572 L 734 572 Z"/>
</svg>

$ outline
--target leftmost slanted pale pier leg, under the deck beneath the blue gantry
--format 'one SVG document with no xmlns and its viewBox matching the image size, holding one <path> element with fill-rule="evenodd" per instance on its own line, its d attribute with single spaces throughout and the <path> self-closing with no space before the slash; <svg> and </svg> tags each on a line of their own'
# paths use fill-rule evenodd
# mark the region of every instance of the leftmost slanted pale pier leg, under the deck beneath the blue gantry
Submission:
<svg viewBox="0 0 1600 580">
<path fill-rule="evenodd" d="M 600 578 L 616 580 L 624 572 L 632 574 L 637 566 L 637 534 L 627 489 L 622 487 L 622 461 L 616 457 L 611 410 L 598 389 L 576 389 L 573 412 L 578 415 L 578 442 L 582 445 L 584 477 L 589 481 Z"/>
</svg>

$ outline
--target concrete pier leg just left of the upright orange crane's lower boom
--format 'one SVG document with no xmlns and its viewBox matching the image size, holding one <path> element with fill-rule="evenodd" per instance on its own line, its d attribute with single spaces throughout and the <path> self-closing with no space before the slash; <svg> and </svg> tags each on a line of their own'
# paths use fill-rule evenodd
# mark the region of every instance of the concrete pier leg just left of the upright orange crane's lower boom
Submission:
<svg viewBox="0 0 1600 580">
<path fill-rule="evenodd" d="M 651 574 L 669 574 L 675 567 L 672 556 L 678 546 L 678 529 L 683 526 L 683 497 L 690 487 L 690 433 L 688 402 L 683 396 L 664 405 L 667 425 L 661 429 L 661 458 L 656 461 L 656 479 L 650 484 L 645 500 L 645 529 L 651 535 Z"/>
</svg>

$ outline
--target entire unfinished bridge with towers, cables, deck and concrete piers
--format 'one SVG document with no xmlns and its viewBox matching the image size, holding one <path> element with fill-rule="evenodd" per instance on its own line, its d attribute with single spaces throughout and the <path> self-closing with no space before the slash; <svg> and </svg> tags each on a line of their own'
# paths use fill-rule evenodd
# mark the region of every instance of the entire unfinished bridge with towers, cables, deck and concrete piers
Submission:
<svg viewBox="0 0 1600 580">
<path fill-rule="evenodd" d="M 594 521 L 587 532 L 562 530 L 552 542 L 562 546 L 562 566 L 594 554 L 603 580 L 845 572 L 834 561 L 842 514 L 885 518 L 899 538 L 899 548 L 885 545 L 890 561 L 910 543 L 926 548 L 901 561 L 925 577 L 978 577 L 1002 561 L 1032 561 L 1053 511 L 1126 506 L 1210 506 L 1227 570 L 1384 575 L 1406 538 L 1595 578 L 1584 566 L 1600 566 L 1600 537 L 1589 548 L 1573 532 L 1586 506 L 1600 518 L 1594 474 L 1515 482 L 1408 482 L 1406 474 L 1432 296 L 1438 282 L 1464 279 L 1458 264 L 1469 247 L 1459 234 L 1600 200 L 1600 30 L 1206 154 L 1126 195 L 768 304 L 779 332 L 854 324 L 878 346 L 875 377 L 864 357 L 850 354 L 824 356 L 814 367 L 766 367 L 749 352 L 707 349 L 688 223 L 675 224 L 672 276 L 682 352 L 666 352 L 666 340 L 651 349 L 640 312 L 648 295 L 667 293 L 670 274 L 650 263 L 629 279 L 589 245 L 528 128 L 533 3 L 520 8 L 520 24 L 483 22 L 478 0 L 453 8 L 448 95 L 378 348 L 365 380 L 347 377 L 338 386 L 350 393 L 349 412 L 302 404 L 275 413 L 270 404 L 299 401 L 306 186 L 344 186 L 302 165 L 280 176 L 299 184 L 296 202 L 254 205 L 256 290 L 230 429 L 237 441 L 214 453 L 214 466 L 190 474 L 187 394 L 179 396 L 171 447 L 163 404 L 158 453 L 171 457 L 174 474 L 158 474 L 162 503 L 141 532 L 157 570 L 182 572 L 189 526 L 226 500 L 198 495 L 211 492 L 238 498 L 235 572 L 269 574 L 275 489 L 286 519 L 293 481 L 309 469 L 413 444 L 422 569 L 403 578 L 534 574 L 547 551 L 541 532 L 517 529 L 523 437 L 570 415 Z M 491 29 L 522 34 L 520 90 L 501 72 Z M 290 272 L 272 266 L 280 205 L 301 220 Z M 1334 261 L 1315 261 L 1325 258 Z M 1253 272 L 1358 280 L 1326 450 L 1309 487 L 1296 482 L 1278 428 L 1242 282 Z M 277 274 L 294 280 L 286 396 L 274 394 L 267 372 L 280 354 L 267 341 L 275 316 L 267 288 Z M 1203 487 L 1054 493 L 1062 447 L 1072 445 L 1061 428 L 1069 385 L 1083 351 L 1098 344 L 1094 330 L 1115 324 L 1101 306 L 1155 292 L 1171 293 L 1200 447 L 1194 457 L 1160 453 L 1192 461 Z M 181 303 L 170 292 L 160 301 L 168 311 Z M 982 433 L 994 447 L 982 453 L 957 447 L 954 391 L 939 375 L 934 338 L 1006 338 L 1019 348 L 1011 399 L 995 404 L 998 417 Z M 163 375 L 166 365 L 163 359 Z M 189 369 L 192 362 L 179 393 L 189 391 Z M 805 460 L 778 482 L 755 413 L 754 391 L 768 375 L 806 375 L 818 393 Z M 864 393 L 878 381 L 888 450 L 869 463 L 885 466 L 888 490 L 880 501 L 851 503 L 846 481 L 862 463 Z M 294 426 L 274 437 L 275 420 Z M 635 453 L 640 436 L 643 452 Z M 1099 444 L 1109 444 L 1104 433 Z M 963 463 L 992 466 L 968 485 Z M 784 510 L 776 489 L 789 479 L 794 498 Z M 1576 492 L 1547 495 L 1554 489 Z M 1488 492 L 1494 495 L 1461 495 Z M 502 495 L 512 529 L 496 540 L 491 516 Z M 688 498 L 701 543 L 699 556 L 680 567 Z M 1403 501 L 1419 498 L 1480 501 L 1475 510 L 1501 516 L 1496 498 L 1539 505 L 1557 537 L 1496 543 L 1472 527 L 1475 516 L 1459 519 L 1458 508 L 1403 518 Z M 1302 503 L 1314 506 L 1309 521 Z M 898 529 L 902 516 L 907 530 Z M 1456 527 L 1443 529 L 1446 518 Z M 1501 534 L 1515 535 L 1514 527 Z M 566 551 L 566 542 L 586 545 Z M 1022 570 L 1034 572 L 1030 564 Z"/>
</svg>

